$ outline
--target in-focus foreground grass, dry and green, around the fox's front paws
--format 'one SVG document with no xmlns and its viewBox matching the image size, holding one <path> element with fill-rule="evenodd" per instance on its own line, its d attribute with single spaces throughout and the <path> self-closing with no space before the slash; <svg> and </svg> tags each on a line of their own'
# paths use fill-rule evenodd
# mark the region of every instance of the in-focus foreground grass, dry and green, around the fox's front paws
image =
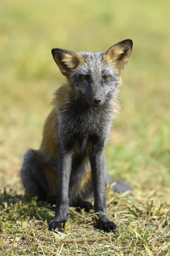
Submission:
<svg viewBox="0 0 170 256">
<path fill-rule="evenodd" d="M 170 255 L 170 201 L 156 192 L 128 198 L 108 192 L 115 233 L 94 230 L 94 213 L 70 208 L 68 227 L 48 231 L 54 212 L 50 206 L 23 196 L 1 195 L 0 248 L 4 255 Z"/>
</svg>

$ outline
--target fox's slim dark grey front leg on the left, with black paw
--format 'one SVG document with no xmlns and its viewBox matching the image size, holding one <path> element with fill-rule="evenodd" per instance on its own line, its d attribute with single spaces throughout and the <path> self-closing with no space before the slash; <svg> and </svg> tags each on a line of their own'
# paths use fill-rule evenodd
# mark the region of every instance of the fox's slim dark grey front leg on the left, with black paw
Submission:
<svg viewBox="0 0 170 256">
<path fill-rule="evenodd" d="M 60 230 L 60 228 L 64 227 L 65 223 L 67 222 L 69 205 L 68 189 L 71 174 L 71 163 L 71 154 L 63 153 L 62 149 L 59 148 L 56 211 L 54 220 L 49 224 L 49 230 Z"/>
</svg>

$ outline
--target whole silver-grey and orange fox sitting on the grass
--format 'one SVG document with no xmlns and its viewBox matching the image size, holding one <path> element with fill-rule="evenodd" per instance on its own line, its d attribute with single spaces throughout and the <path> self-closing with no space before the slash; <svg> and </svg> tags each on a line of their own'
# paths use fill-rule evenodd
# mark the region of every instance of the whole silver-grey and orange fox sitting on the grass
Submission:
<svg viewBox="0 0 170 256">
<path fill-rule="evenodd" d="M 26 151 L 20 170 L 27 197 L 56 205 L 49 230 L 65 227 L 69 206 L 94 209 L 99 230 L 116 229 L 105 202 L 105 145 L 119 112 L 122 70 L 132 47 L 133 41 L 126 39 L 99 52 L 51 50 L 66 83 L 54 93 L 40 148 Z M 114 191 L 131 189 L 116 181 Z"/>
</svg>

